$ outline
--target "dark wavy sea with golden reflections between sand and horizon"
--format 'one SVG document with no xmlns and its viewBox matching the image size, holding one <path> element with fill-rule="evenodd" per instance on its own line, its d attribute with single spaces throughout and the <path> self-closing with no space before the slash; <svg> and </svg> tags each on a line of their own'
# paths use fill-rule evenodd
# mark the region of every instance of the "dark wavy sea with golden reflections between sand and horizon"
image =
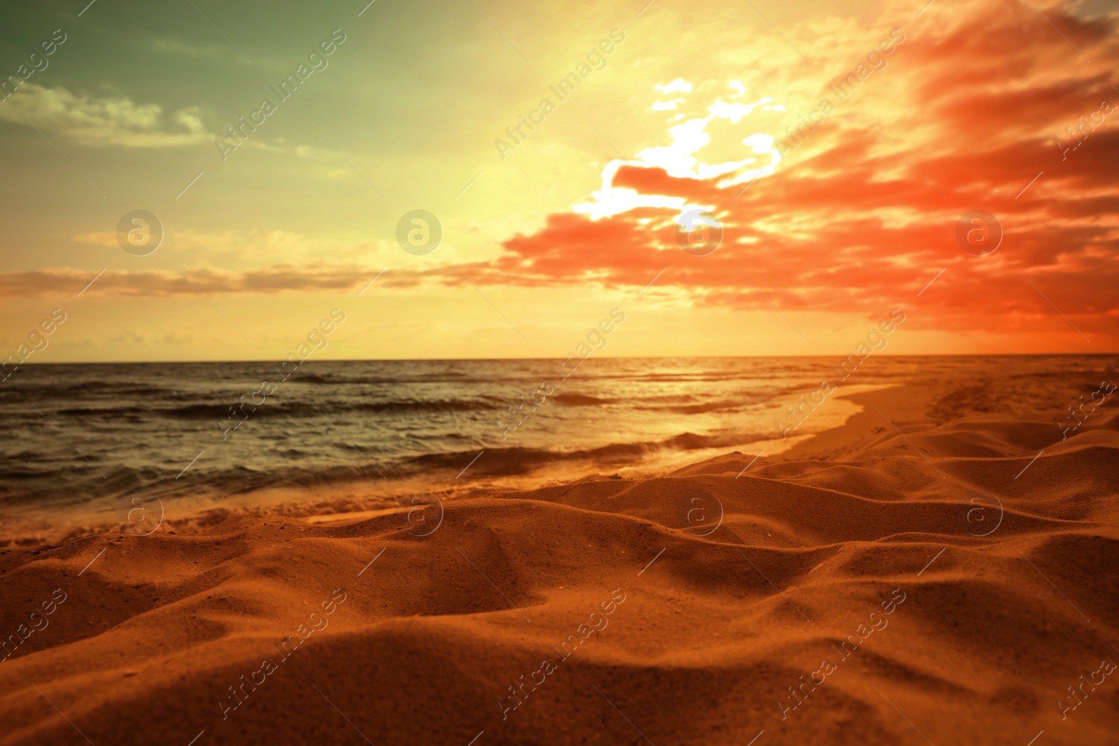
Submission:
<svg viewBox="0 0 1119 746">
<path fill-rule="evenodd" d="M 872 356 L 838 394 L 980 360 Z M 204 513 L 352 511 L 775 454 L 858 410 L 831 396 L 794 433 L 778 424 L 837 380 L 840 361 L 591 357 L 574 372 L 543 359 L 309 360 L 292 372 L 270 361 L 25 365 L 0 383 L 0 542 L 123 530 L 157 502 L 168 530 Z"/>
</svg>

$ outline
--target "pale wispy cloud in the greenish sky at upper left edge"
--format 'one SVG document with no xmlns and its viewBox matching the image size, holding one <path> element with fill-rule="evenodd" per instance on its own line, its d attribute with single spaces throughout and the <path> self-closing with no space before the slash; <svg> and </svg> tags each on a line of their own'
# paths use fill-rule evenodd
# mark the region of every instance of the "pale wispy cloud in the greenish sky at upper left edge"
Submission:
<svg viewBox="0 0 1119 746">
<path fill-rule="evenodd" d="M 0 121 L 58 132 L 85 145 L 175 148 L 213 140 L 194 106 L 164 114 L 128 96 L 90 96 L 25 83 L 0 103 Z"/>
</svg>

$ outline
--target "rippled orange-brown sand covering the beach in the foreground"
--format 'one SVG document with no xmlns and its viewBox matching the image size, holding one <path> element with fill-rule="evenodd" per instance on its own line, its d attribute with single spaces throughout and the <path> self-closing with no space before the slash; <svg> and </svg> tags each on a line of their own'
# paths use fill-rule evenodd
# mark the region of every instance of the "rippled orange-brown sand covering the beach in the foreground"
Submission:
<svg viewBox="0 0 1119 746">
<path fill-rule="evenodd" d="M 8 550 L 0 743 L 1117 743 L 1119 415 L 1062 441 L 1049 385 L 864 394 L 778 456 L 481 491 L 427 536 Z"/>
</svg>

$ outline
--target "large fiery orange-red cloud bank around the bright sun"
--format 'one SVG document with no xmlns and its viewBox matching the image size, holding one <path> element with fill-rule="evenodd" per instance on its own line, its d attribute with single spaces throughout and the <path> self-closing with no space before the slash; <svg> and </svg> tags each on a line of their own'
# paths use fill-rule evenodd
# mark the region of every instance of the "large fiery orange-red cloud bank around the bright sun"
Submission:
<svg viewBox="0 0 1119 746">
<path fill-rule="evenodd" d="M 640 289 L 665 270 L 647 300 L 683 293 L 694 304 L 869 318 L 920 305 L 913 325 L 1075 336 L 1063 314 L 1085 332 L 1115 334 L 1116 20 L 1060 6 L 1042 12 L 932 6 L 899 23 L 905 38 L 890 55 L 880 45 L 893 26 L 791 28 L 800 46 L 818 25 L 816 48 L 844 62 L 787 73 L 735 58 L 758 72 L 750 89 L 769 95 L 725 103 L 721 89 L 730 85 L 737 98 L 741 81 L 696 85 L 688 98 L 704 96 L 706 115 L 612 161 L 591 200 L 504 242 L 506 253 L 474 282 Z M 829 84 L 867 60 L 866 76 L 840 100 Z M 648 100 L 657 97 L 650 89 Z M 835 111 L 821 121 L 824 98 Z M 1101 113 L 1101 102 L 1116 113 Z M 711 155 L 735 143 L 733 158 Z M 707 256 L 677 245 L 681 214 L 697 206 L 724 229 Z M 957 223 L 975 209 L 1005 230 L 989 256 L 957 245 Z"/>
</svg>

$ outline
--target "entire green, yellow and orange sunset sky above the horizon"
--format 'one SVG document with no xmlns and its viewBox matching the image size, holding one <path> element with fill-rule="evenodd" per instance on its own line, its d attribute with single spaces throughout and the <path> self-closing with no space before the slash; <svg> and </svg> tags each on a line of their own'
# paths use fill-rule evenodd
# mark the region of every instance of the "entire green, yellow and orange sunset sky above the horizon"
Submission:
<svg viewBox="0 0 1119 746">
<path fill-rule="evenodd" d="M 613 309 L 604 356 L 847 356 L 895 309 L 886 353 L 1113 352 L 1117 23 L 1043 0 L 11 7 L 0 357 L 65 317 L 29 361 L 281 359 L 335 309 L 338 359 L 566 357 Z"/>
</svg>

